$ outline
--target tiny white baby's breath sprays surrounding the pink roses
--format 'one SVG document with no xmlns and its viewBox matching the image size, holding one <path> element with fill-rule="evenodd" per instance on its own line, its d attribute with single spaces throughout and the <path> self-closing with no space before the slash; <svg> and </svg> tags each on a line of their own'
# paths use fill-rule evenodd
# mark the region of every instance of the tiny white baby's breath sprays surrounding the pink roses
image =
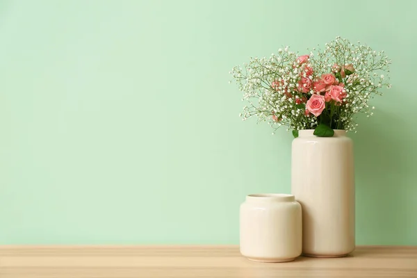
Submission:
<svg viewBox="0 0 417 278">
<path fill-rule="evenodd" d="M 316 51 L 316 48 L 313 50 Z M 384 74 L 380 73 L 389 73 L 388 65 L 391 63 L 383 51 L 376 55 L 370 47 L 351 44 L 345 39 L 337 38 L 325 44 L 325 51 L 309 52 L 310 60 L 302 65 L 296 62 L 298 55 L 285 47 L 284 50 L 278 49 L 277 55 L 271 54 L 269 58 L 251 58 L 250 63 L 244 63 L 243 67 L 234 67 L 231 75 L 238 88 L 243 91 L 243 100 L 249 104 L 243 113 L 240 113 L 240 117 L 247 120 L 255 115 L 262 122 L 272 122 L 275 129 L 281 125 L 287 126 L 288 129 L 313 129 L 320 116 L 318 118 L 310 114 L 306 117 L 305 101 L 315 92 L 313 87 L 309 88 L 309 93 L 298 92 L 300 79 L 302 76 L 308 77 L 311 83 L 320 80 L 321 74 L 331 73 L 338 55 L 338 59 L 344 60 L 345 65 L 352 64 L 354 67 L 353 73 L 341 80 L 345 84 L 346 95 L 341 108 L 334 109 L 339 113 L 336 117 L 339 119 L 338 128 L 347 131 L 356 129 L 357 125 L 352 116 L 354 113 L 373 115 L 369 111 L 368 101 L 373 95 L 381 95 L 380 88 L 391 88 L 391 84 L 384 81 L 389 78 L 384 79 Z M 369 59 L 370 55 L 373 60 Z M 304 72 L 306 66 L 313 68 L 312 75 L 307 76 Z M 380 69 L 378 74 L 374 68 Z M 271 85 L 273 82 L 277 83 Z M 303 83 L 302 88 L 308 88 L 307 86 Z M 333 102 L 327 103 L 326 109 L 332 105 Z M 279 117 L 281 122 L 273 122 L 271 115 Z"/>
</svg>

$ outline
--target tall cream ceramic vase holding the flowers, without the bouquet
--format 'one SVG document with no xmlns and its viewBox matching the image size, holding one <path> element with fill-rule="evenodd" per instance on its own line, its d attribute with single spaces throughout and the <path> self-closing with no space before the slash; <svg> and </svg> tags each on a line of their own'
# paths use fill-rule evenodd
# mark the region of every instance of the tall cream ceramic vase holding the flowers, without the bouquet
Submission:
<svg viewBox="0 0 417 278">
<path fill-rule="evenodd" d="M 302 206 L 302 253 L 345 256 L 354 250 L 354 163 L 345 131 L 317 137 L 299 131 L 293 140 L 291 191 Z"/>
</svg>

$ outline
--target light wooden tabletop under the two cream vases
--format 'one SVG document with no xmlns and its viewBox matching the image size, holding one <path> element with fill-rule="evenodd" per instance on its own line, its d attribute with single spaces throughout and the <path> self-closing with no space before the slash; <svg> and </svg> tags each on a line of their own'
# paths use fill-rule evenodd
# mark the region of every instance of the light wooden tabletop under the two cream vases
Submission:
<svg viewBox="0 0 417 278">
<path fill-rule="evenodd" d="M 417 277 L 417 247 L 360 246 L 337 259 L 255 263 L 236 246 L 0 247 L 1 278 Z"/>
</svg>

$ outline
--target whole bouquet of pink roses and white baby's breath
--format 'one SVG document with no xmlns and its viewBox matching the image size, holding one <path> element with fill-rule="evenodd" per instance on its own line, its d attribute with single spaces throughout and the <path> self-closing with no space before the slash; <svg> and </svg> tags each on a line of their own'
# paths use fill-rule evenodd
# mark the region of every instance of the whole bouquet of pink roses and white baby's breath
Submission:
<svg viewBox="0 0 417 278">
<path fill-rule="evenodd" d="M 256 115 L 275 130 L 288 126 L 294 137 L 301 129 L 323 137 L 333 136 L 334 129 L 356 132 L 354 115 L 373 115 L 368 100 L 391 88 L 391 60 L 384 51 L 340 37 L 313 51 L 298 56 L 285 47 L 270 58 L 250 58 L 234 67 L 230 73 L 248 102 L 240 117 Z"/>
</svg>

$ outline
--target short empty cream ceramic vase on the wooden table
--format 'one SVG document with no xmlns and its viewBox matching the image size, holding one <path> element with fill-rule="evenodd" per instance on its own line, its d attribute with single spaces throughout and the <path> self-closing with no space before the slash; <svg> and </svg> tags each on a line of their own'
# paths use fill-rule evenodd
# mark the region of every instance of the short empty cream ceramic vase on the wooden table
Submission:
<svg viewBox="0 0 417 278">
<path fill-rule="evenodd" d="M 251 261 L 293 261 L 302 252 L 301 218 L 293 195 L 247 195 L 240 205 L 240 253 Z"/>
</svg>

